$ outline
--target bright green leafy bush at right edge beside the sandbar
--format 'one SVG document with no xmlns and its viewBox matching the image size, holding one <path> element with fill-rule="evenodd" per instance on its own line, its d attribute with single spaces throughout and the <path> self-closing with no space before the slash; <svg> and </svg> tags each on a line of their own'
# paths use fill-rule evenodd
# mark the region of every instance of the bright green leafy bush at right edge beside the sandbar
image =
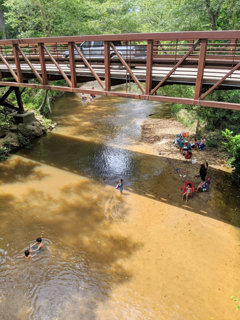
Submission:
<svg viewBox="0 0 240 320">
<path fill-rule="evenodd" d="M 222 147 L 228 153 L 228 164 L 234 168 L 233 178 L 240 185 L 240 134 L 233 136 L 232 133 L 228 129 L 222 132 L 225 140 Z"/>
</svg>

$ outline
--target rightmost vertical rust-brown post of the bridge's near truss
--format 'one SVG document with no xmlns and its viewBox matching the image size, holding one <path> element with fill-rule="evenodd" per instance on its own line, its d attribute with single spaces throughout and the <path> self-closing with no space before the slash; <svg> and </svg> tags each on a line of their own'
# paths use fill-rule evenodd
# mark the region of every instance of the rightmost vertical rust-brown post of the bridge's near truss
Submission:
<svg viewBox="0 0 240 320">
<path fill-rule="evenodd" d="M 194 100 L 198 100 L 201 96 L 202 85 L 203 85 L 203 74 L 204 74 L 204 67 L 205 67 L 205 61 L 206 61 L 206 52 L 207 52 L 207 39 L 202 39 L 201 45 L 200 45 L 199 59 L 198 59 Z"/>
</svg>

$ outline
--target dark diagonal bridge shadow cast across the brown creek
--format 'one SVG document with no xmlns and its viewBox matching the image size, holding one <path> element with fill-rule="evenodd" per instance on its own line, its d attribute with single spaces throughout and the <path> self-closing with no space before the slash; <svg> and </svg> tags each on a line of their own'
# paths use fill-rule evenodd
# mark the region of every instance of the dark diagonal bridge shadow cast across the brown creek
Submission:
<svg viewBox="0 0 240 320">
<path fill-rule="evenodd" d="M 181 202 L 180 187 L 184 185 L 185 179 L 190 179 L 196 188 L 199 179 L 180 178 L 175 168 L 166 165 L 166 159 L 160 156 L 59 134 L 35 140 L 31 150 L 20 150 L 18 154 L 90 178 L 100 188 L 106 185 L 115 187 L 119 178 L 123 178 L 125 190 L 240 226 L 238 190 L 234 192 L 229 187 L 229 175 L 221 170 L 209 168 L 208 174 L 218 177 L 214 196 L 214 181 L 210 187 L 212 201 L 209 201 L 207 193 L 199 195 L 195 192 L 193 200 L 185 204 Z M 184 167 L 190 165 L 185 160 L 179 160 L 179 164 Z"/>
</svg>

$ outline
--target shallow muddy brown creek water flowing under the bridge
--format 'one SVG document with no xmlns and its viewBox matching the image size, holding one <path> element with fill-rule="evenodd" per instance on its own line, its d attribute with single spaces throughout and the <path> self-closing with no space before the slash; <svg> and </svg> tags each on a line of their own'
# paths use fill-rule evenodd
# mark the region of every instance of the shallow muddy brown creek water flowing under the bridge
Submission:
<svg viewBox="0 0 240 320">
<path fill-rule="evenodd" d="M 238 190 L 179 201 L 172 168 L 139 143 L 142 121 L 169 112 L 66 94 L 56 130 L 0 164 L 1 319 L 240 319 Z M 38 236 L 44 249 L 17 259 Z"/>
</svg>

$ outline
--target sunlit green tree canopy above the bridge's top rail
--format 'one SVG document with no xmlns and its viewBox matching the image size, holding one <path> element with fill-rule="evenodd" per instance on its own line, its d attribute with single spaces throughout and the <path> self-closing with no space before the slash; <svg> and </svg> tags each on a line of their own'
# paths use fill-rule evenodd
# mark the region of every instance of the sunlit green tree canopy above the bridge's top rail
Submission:
<svg viewBox="0 0 240 320">
<path fill-rule="evenodd" d="M 0 4 L 8 38 L 240 28 L 240 0 L 2 0 Z"/>
</svg>

